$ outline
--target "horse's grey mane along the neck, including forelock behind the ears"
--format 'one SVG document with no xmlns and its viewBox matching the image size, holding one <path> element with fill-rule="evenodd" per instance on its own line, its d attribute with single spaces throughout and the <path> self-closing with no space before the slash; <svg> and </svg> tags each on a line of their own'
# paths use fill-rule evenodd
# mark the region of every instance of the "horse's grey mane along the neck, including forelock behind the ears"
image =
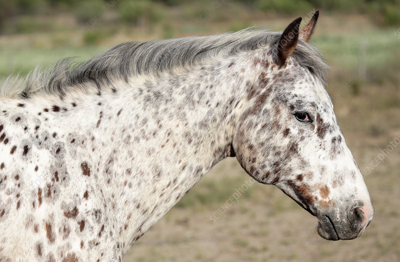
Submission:
<svg viewBox="0 0 400 262">
<path fill-rule="evenodd" d="M 82 63 L 73 64 L 71 58 L 66 58 L 44 72 L 36 68 L 25 78 L 8 77 L 0 85 L 0 96 L 28 98 L 40 93 L 62 97 L 70 88 L 79 88 L 88 82 L 95 84 L 101 92 L 106 87 L 113 88 L 112 82 L 116 79 L 127 81 L 135 75 L 157 75 L 174 68 L 189 68 L 206 64 L 210 59 L 276 44 L 280 34 L 245 29 L 211 36 L 125 42 Z M 315 47 L 298 41 L 292 57 L 326 83 L 328 67 Z"/>
</svg>

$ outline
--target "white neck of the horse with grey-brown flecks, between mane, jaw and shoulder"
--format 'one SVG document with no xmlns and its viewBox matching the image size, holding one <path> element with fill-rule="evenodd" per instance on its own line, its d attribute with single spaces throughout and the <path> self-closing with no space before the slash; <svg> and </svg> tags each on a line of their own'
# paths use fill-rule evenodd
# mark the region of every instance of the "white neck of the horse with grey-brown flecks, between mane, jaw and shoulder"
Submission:
<svg viewBox="0 0 400 262">
<path fill-rule="evenodd" d="M 40 122 L 47 131 L 39 139 L 53 137 L 64 146 L 68 158 L 56 161 L 76 181 L 88 179 L 90 185 L 81 181 L 75 187 L 91 188 L 127 251 L 229 156 L 252 67 L 243 54 L 192 70 L 132 77 L 113 83 L 115 92 L 97 94 L 88 85 L 62 100 L 37 96 L 5 105 L 24 114 L 29 130 Z"/>
</svg>

